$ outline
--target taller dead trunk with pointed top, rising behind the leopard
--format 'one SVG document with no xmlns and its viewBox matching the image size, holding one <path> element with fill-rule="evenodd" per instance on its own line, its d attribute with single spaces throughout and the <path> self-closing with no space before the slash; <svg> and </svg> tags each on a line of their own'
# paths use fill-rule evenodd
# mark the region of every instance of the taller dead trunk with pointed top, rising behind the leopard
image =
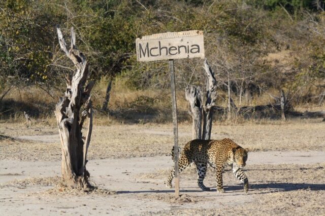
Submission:
<svg viewBox="0 0 325 216">
<path fill-rule="evenodd" d="M 217 81 L 214 77 L 214 73 L 211 70 L 211 67 L 208 64 L 208 61 L 204 61 L 204 69 L 207 73 L 206 80 L 206 97 L 203 103 L 203 131 L 202 139 L 210 140 L 211 138 L 211 129 L 212 129 L 212 115 L 213 115 L 213 106 L 214 101 L 217 98 Z"/>
</svg>

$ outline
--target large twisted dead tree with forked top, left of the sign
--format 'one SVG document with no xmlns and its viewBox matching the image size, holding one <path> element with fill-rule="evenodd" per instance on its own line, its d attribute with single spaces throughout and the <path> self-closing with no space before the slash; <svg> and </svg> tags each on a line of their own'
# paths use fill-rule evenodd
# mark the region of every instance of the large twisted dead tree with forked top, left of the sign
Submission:
<svg viewBox="0 0 325 216">
<path fill-rule="evenodd" d="M 90 92 L 94 82 L 90 81 L 86 85 L 88 63 L 86 57 L 76 47 L 73 28 L 71 28 L 69 51 L 59 28 L 57 28 L 57 35 L 61 49 L 77 68 L 73 76 L 66 75 L 67 90 L 64 97 L 59 98 L 54 111 L 62 147 L 62 180 L 65 186 L 90 187 L 86 158 L 92 131 Z M 87 133 L 83 138 L 81 129 L 86 118 L 88 118 Z"/>
</svg>

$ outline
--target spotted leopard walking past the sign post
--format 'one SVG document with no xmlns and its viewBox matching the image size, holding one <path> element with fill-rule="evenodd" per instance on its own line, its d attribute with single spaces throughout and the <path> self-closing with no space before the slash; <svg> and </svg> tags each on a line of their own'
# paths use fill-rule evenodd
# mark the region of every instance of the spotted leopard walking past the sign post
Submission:
<svg viewBox="0 0 325 216">
<path fill-rule="evenodd" d="M 192 140 L 185 144 L 179 158 L 179 172 L 194 162 L 198 172 L 198 186 L 203 191 L 211 189 L 203 184 L 206 176 L 207 165 L 216 170 L 216 188 L 218 193 L 224 193 L 222 185 L 222 172 L 225 166 L 233 165 L 232 170 L 235 177 L 244 183 L 244 192 L 248 192 L 249 184 L 246 174 L 242 168 L 246 165 L 248 149 L 237 145 L 233 140 L 225 138 L 222 140 Z M 174 148 L 172 150 L 174 159 Z M 175 167 L 170 172 L 166 186 L 172 188 L 172 180 L 175 176 Z"/>
</svg>

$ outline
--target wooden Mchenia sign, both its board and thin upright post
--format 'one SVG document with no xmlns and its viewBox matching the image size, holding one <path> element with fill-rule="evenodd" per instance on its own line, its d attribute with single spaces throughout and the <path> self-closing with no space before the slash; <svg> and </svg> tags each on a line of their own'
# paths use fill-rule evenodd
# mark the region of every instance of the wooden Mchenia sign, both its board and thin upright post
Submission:
<svg viewBox="0 0 325 216">
<path fill-rule="evenodd" d="M 137 60 L 140 62 L 169 60 L 174 124 L 175 196 L 179 197 L 178 127 L 174 59 L 204 58 L 203 32 L 198 30 L 166 32 L 136 39 Z"/>
</svg>

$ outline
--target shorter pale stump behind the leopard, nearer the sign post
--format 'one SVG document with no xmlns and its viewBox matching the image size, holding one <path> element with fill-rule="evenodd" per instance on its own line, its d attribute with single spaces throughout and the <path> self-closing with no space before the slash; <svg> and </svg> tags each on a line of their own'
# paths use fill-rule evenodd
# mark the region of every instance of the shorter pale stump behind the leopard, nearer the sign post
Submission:
<svg viewBox="0 0 325 216">
<path fill-rule="evenodd" d="M 202 128 L 202 102 L 200 88 L 189 85 L 185 89 L 185 99 L 190 106 L 190 114 L 192 116 L 192 139 L 201 139 Z"/>
</svg>

